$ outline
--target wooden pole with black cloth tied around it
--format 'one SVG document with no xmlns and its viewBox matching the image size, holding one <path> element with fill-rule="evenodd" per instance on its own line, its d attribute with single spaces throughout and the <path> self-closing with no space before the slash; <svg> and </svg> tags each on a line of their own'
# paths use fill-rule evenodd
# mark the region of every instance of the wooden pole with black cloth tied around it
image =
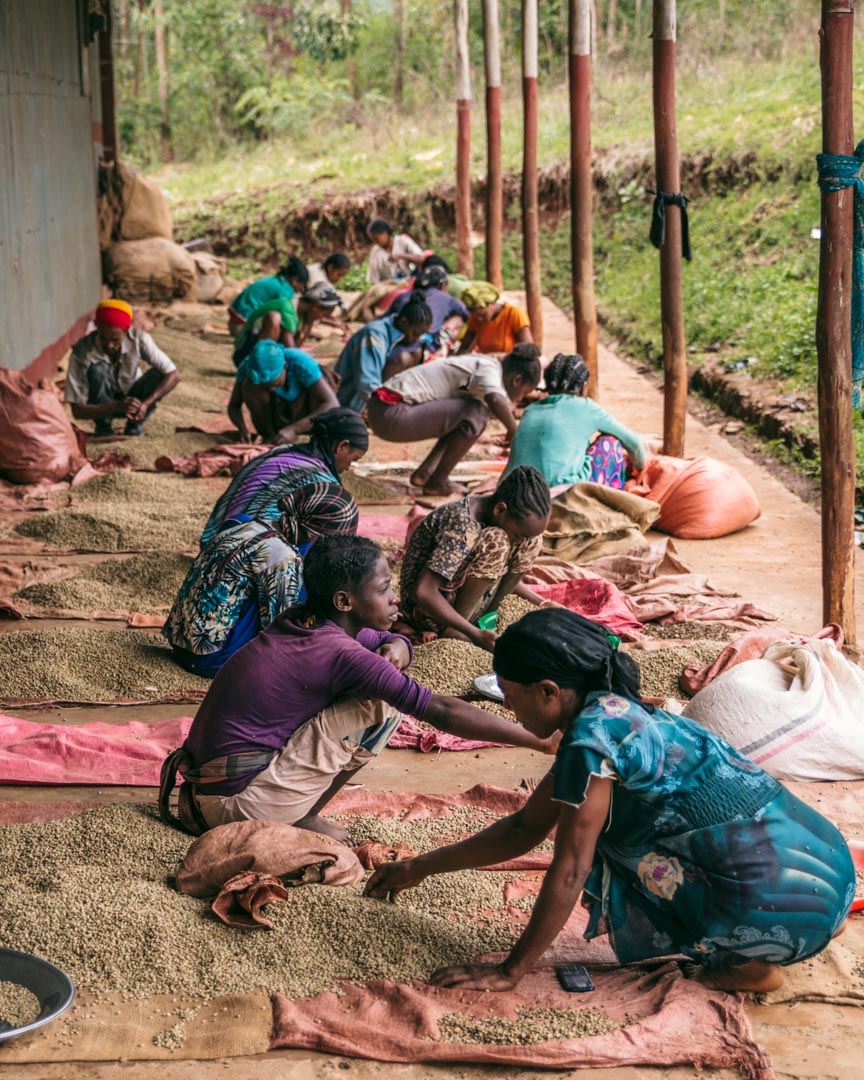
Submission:
<svg viewBox="0 0 864 1080">
<path fill-rule="evenodd" d="M 654 0 L 653 96 L 657 190 L 677 194 L 675 129 L 675 0 Z M 666 206 L 666 239 L 660 248 L 660 319 L 663 324 L 663 450 L 684 457 L 687 420 L 687 346 L 681 293 L 681 212 Z"/>
</svg>

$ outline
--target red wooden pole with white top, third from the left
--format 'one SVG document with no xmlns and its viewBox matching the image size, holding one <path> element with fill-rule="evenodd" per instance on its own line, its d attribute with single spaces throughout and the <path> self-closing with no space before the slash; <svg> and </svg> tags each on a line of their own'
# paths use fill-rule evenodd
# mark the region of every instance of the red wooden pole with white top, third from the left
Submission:
<svg viewBox="0 0 864 1080">
<path fill-rule="evenodd" d="M 543 289 L 540 282 L 540 205 L 537 188 L 537 0 L 522 3 L 522 243 L 531 337 L 543 348 Z"/>
</svg>

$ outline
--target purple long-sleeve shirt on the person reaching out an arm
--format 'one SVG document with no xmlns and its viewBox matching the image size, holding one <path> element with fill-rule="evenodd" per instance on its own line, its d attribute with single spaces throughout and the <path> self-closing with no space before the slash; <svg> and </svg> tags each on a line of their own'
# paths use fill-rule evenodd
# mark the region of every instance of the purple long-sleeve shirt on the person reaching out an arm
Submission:
<svg viewBox="0 0 864 1080">
<path fill-rule="evenodd" d="M 351 637 L 329 620 L 306 627 L 288 613 L 249 642 L 219 671 L 192 721 L 186 747 L 197 766 L 246 751 L 280 751 L 307 720 L 339 697 L 386 701 L 422 719 L 431 692 L 375 650 L 407 638 L 376 630 Z M 249 778 L 208 785 L 234 795 Z"/>
</svg>

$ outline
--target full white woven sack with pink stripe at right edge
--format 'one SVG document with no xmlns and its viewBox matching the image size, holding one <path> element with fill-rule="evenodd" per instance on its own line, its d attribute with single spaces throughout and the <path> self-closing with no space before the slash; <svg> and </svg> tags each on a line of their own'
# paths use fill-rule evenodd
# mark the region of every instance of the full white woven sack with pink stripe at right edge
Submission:
<svg viewBox="0 0 864 1080">
<path fill-rule="evenodd" d="M 831 639 L 769 646 L 718 675 L 684 715 L 778 780 L 864 777 L 864 671 Z"/>
</svg>

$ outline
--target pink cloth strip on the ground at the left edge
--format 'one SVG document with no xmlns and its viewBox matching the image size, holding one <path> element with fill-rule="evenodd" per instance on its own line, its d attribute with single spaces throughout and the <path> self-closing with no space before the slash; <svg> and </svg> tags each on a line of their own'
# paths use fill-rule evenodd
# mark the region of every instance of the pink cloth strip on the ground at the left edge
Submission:
<svg viewBox="0 0 864 1080">
<path fill-rule="evenodd" d="M 0 716 L 0 783 L 159 786 L 168 753 L 192 720 L 35 724 Z"/>
</svg>

